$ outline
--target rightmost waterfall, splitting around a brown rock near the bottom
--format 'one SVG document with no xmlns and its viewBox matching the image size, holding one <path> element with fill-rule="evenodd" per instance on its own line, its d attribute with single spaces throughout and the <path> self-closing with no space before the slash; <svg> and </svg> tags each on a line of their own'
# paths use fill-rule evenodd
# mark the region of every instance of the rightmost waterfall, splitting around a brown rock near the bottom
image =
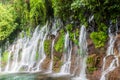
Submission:
<svg viewBox="0 0 120 80">
<path fill-rule="evenodd" d="M 114 43 L 116 41 L 116 38 L 111 33 L 110 28 L 109 28 L 109 38 L 110 38 L 109 43 L 108 43 L 109 47 L 106 52 L 107 55 L 103 59 L 103 67 L 102 67 L 102 74 L 101 74 L 102 76 L 101 76 L 100 80 L 106 80 L 105 75 L 108 74 L 110 71 L 113 71 L 117 66 L 119 66 L 118 57 L 114 53 Z M 114 59 L 110 63 L 109 67 L 107 69 L 105 69 L 106 58 L 110 55 L 113 55 Z M 115 64 L 117 64 L 117 65 L 115 65 Z"/>
</svg>

